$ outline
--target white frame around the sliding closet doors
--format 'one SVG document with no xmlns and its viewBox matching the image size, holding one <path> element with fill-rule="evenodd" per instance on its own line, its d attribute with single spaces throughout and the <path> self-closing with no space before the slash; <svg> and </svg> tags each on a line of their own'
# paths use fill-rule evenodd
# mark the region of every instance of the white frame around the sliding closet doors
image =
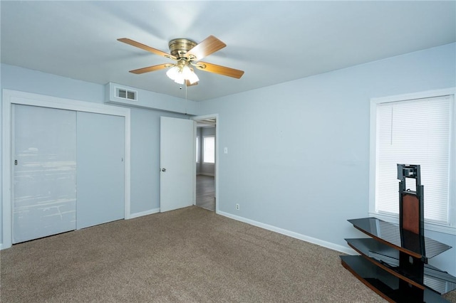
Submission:
<svg viewBox="0 0 456 303">
<path fill-rule="evenodd" d="M 0 250 L 12 245 L 12 158 L 11 151 L 11 105 L 50 107 L 76 112 L 125 117 L 125 219 L 130 218 L 130 109 L 93 102 L 84 102 L 47 95 L 38 95 L 16 90 L 3 90 L 2 97 L 2 184 L 1 184 L 1 243 Z"/>
</svg>

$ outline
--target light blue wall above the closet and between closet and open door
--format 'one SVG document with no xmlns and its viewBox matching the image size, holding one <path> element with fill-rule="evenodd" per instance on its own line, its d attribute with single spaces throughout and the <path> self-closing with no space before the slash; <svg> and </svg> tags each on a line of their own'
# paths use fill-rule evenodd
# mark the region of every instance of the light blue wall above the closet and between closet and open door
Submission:
<svg viewBox="0 0 456 303">
<path fill-rule="evenodd" d="M 19 90 L 86 102 L 103 103 L 105 101 L 105 85 L 4 64 L 1 65 L 1 89 Z M 160 97 L 160 94 L 155 93 L 154 96 Z M 170 96 L 163 95 L 163 97 L 167 100 L 170 99 Z M 175 98 L 174 101 L 185 102 L 180 98 Z M 174 110 L 174 108 L 170 110 Z M 160 175 L 158 173 L 160 167 L 160 116 L 189 118 L 187 115 L 178 113 L 140 108 L 132 108 L 130 112 L 130 213 L 133 215 L 160 207 Z"/>
</svg>

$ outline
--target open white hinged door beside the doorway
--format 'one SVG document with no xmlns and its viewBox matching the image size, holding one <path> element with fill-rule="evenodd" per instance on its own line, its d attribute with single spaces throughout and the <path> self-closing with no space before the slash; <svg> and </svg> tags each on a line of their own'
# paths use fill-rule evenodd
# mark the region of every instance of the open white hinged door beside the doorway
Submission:
<svg viewBox="0 0 456 303">
<path fill-rule="evenodd" d="M 160 212 L 192 206 L 194 201 L 195 122 L 160 119 Z"/>
</svg>

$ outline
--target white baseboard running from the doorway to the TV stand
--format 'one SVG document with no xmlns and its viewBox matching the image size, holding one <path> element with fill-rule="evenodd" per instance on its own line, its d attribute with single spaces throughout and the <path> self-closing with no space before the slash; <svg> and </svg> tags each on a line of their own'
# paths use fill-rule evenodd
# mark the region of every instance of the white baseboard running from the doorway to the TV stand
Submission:
<svg viewBox="0 0 456 303">
<path fill-rule="evenodd" d="M 302 235 L 300 233 L 295 233 L 294 231 L 286 230 L 284 228 L 278 228 L 278 227 L 273 226 L 273 225 L 264 224 L 264 223 L 260 223 L 260 222 L 257 222 L 257 221 L 254 221 L 254 220 L 250 220 L 250 219 L 247 219 L 247 218 L 239 217 L 239 216 L 233 215 L 232 213 L 225 213 L 224 211 L 219 211 L 217 213 L 219 215 L 221 215 L 221 216 L 225 216 L 227 218 L 232 218 L 234 220 L 238 220 L 238 221 L 241 221 L 241 222 L 244 222 L 244 223 L 248 223 L 250 225 L 254 225 L 254 226 L 257 226 L 259 228 L 264 228 L 266 230 L 271 230 L 271 231 L 274 231 L 276 233 L 281 233 L 282 235 L 288 235 L 291 238 L 296 238 L 296 239 L 303 240 L 303 241 L 306 241 L 306 242 L 309 242 L 309 243 L 312 243 L 312 244 L 320 245 L 320 246 L 323 246 L 323 248 L 329 248 L 331 250 L 336 250 L 338 252 L 343 252 L 343 253 L 346 253 L 347 255 L 358 255 L 358 252 L 356 252 L 355 250 L 353 250 L 351 248 L 343 246 L 343 245 L 338 245 L 338 244 L 331 243 L 331 242 L 328 242 L 328 241 L 325 241 L 325 240 L 312 238 L 312 237 L 309 237 L 308 235 Z"/>
</svg>

